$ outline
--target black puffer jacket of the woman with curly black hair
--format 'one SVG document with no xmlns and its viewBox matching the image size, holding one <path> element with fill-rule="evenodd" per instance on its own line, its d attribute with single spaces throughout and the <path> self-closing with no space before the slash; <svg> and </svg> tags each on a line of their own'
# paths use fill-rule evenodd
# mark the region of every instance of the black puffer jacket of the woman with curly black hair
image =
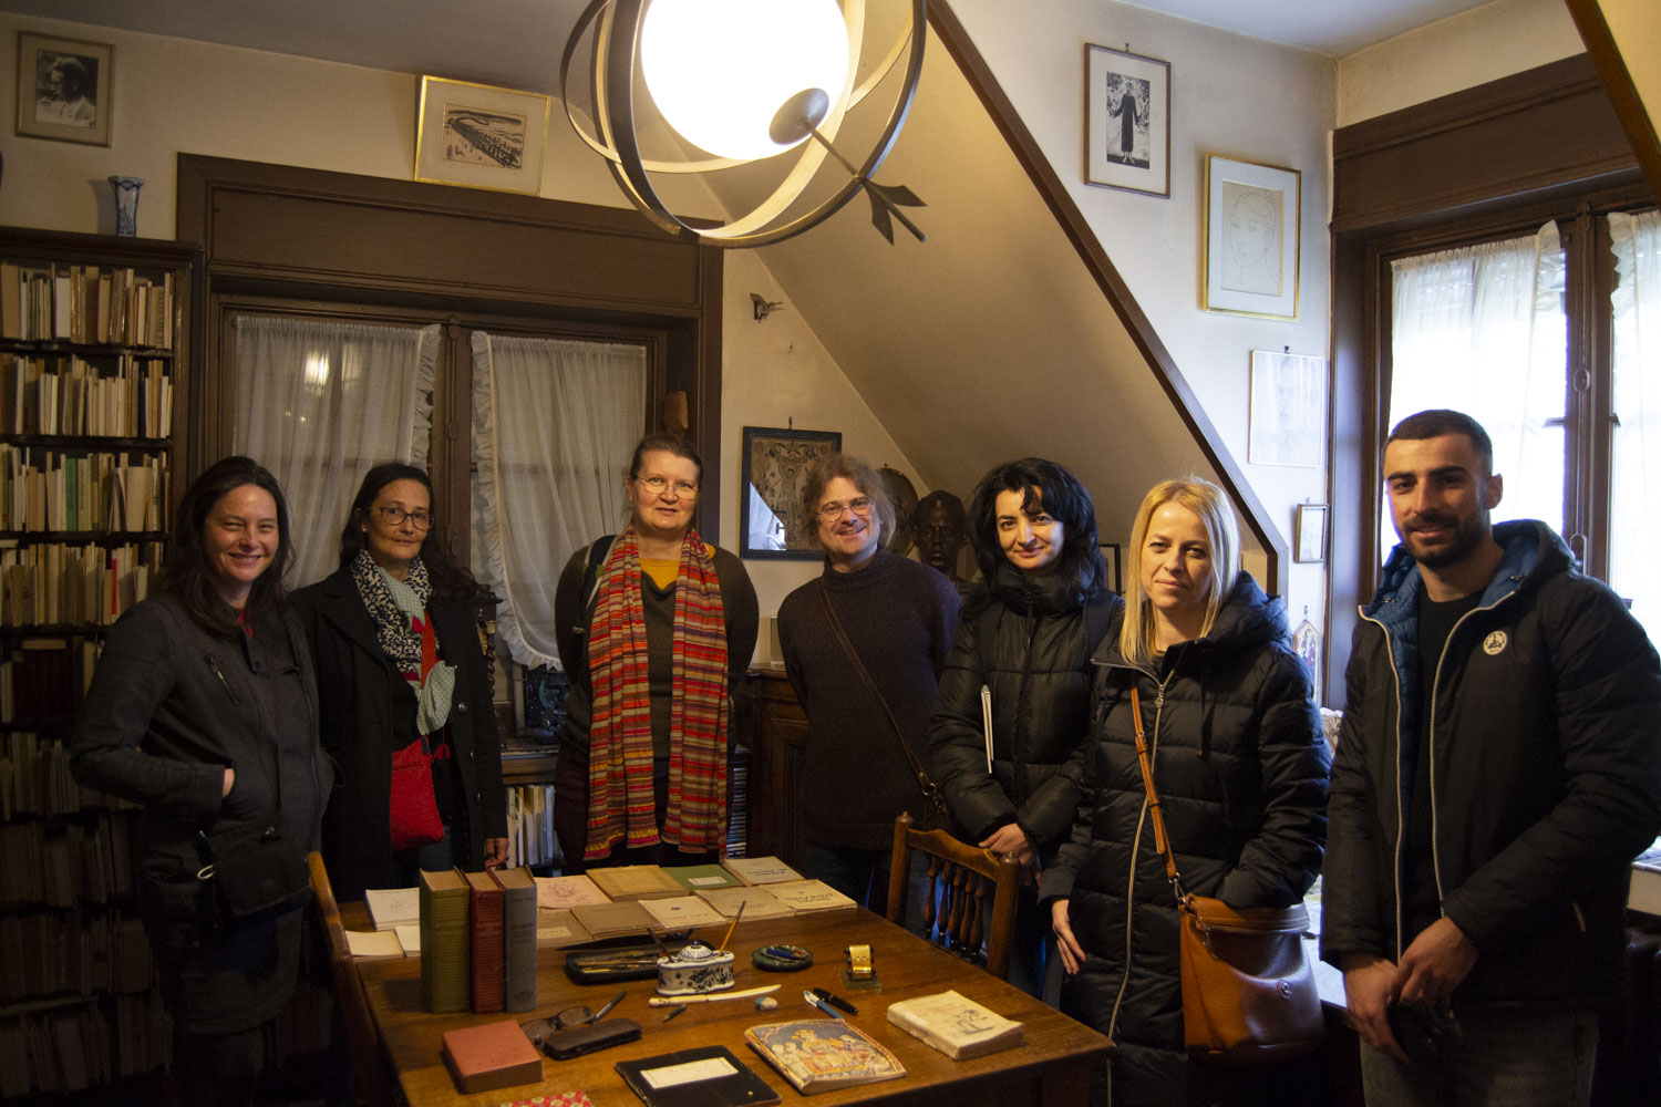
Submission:
<svg viewBox="0 0 1661 1107">
<path fill-rule="evenodd" d="M 1013 822 L 1048 861 L 1066 838 L 1090 727 L 1090 654 L 1123 602 L 1106 589 L 1080 596 L 1073 579 L 1012 564 L 998 566 L 990 594 L 970 597 L 928 732 L 935 783 L 970 841 Z M 983 684 L 992 689 L 990 777 Z"/>
</svg>

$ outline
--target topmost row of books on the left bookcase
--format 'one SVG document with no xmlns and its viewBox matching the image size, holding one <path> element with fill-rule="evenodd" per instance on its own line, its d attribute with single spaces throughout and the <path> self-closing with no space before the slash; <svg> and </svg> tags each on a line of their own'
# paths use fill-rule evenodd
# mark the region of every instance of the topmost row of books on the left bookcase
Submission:
<svg viewBox="0 0 1661 1107">
<path fill-rule="evenodd" d="M 0 262 L 0 339 L 173 349 L 171 272 Z"/>
</svg>

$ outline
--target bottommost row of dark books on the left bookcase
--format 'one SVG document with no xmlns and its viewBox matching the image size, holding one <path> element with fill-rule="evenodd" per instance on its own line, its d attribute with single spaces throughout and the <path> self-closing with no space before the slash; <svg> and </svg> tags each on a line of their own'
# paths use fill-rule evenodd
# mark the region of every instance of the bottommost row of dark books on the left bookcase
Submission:
<svg viewBox="0 0 1661 1107">
<path fill-rule="evenodd" d="M 0 1017 L 0 1097 L 61 1095 L 154 1072 L 173 1059 L 161 992 Z"/>
</svg>

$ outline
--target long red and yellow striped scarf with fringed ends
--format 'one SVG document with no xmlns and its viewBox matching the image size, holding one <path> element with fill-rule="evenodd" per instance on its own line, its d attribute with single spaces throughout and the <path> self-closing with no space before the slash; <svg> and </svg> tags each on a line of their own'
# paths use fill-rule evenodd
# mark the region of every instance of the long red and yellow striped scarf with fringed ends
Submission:
<svg viewBox="0 0 1661 1107">
<path fill-rule="evenodd" d="M 651 677 L 641 601 L 639 536 L 625 528 L 600 571 L 588 634 L 593 725 L 588 734 L 590 861 L 623 840 L 658 841 L 651 788 Z M 663 840 L 684 853 L 721 846 L 726 831 L 728 647 L 721 583 L 698 531 L 681 539 L 674 586 L 669 709 L 669 810 Z"/>
</svg>

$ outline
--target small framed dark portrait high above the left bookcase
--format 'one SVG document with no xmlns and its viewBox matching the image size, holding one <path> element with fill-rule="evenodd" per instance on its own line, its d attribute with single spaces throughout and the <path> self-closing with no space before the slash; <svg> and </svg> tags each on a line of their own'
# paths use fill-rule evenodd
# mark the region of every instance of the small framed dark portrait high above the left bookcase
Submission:
<svg viewBox="0 0 1661 1107">
<path fill-rule="evenodd" d="M 18 32 L 18 134 L 108 146 L 113 111 L 115 46 Z"/>
</svg>

